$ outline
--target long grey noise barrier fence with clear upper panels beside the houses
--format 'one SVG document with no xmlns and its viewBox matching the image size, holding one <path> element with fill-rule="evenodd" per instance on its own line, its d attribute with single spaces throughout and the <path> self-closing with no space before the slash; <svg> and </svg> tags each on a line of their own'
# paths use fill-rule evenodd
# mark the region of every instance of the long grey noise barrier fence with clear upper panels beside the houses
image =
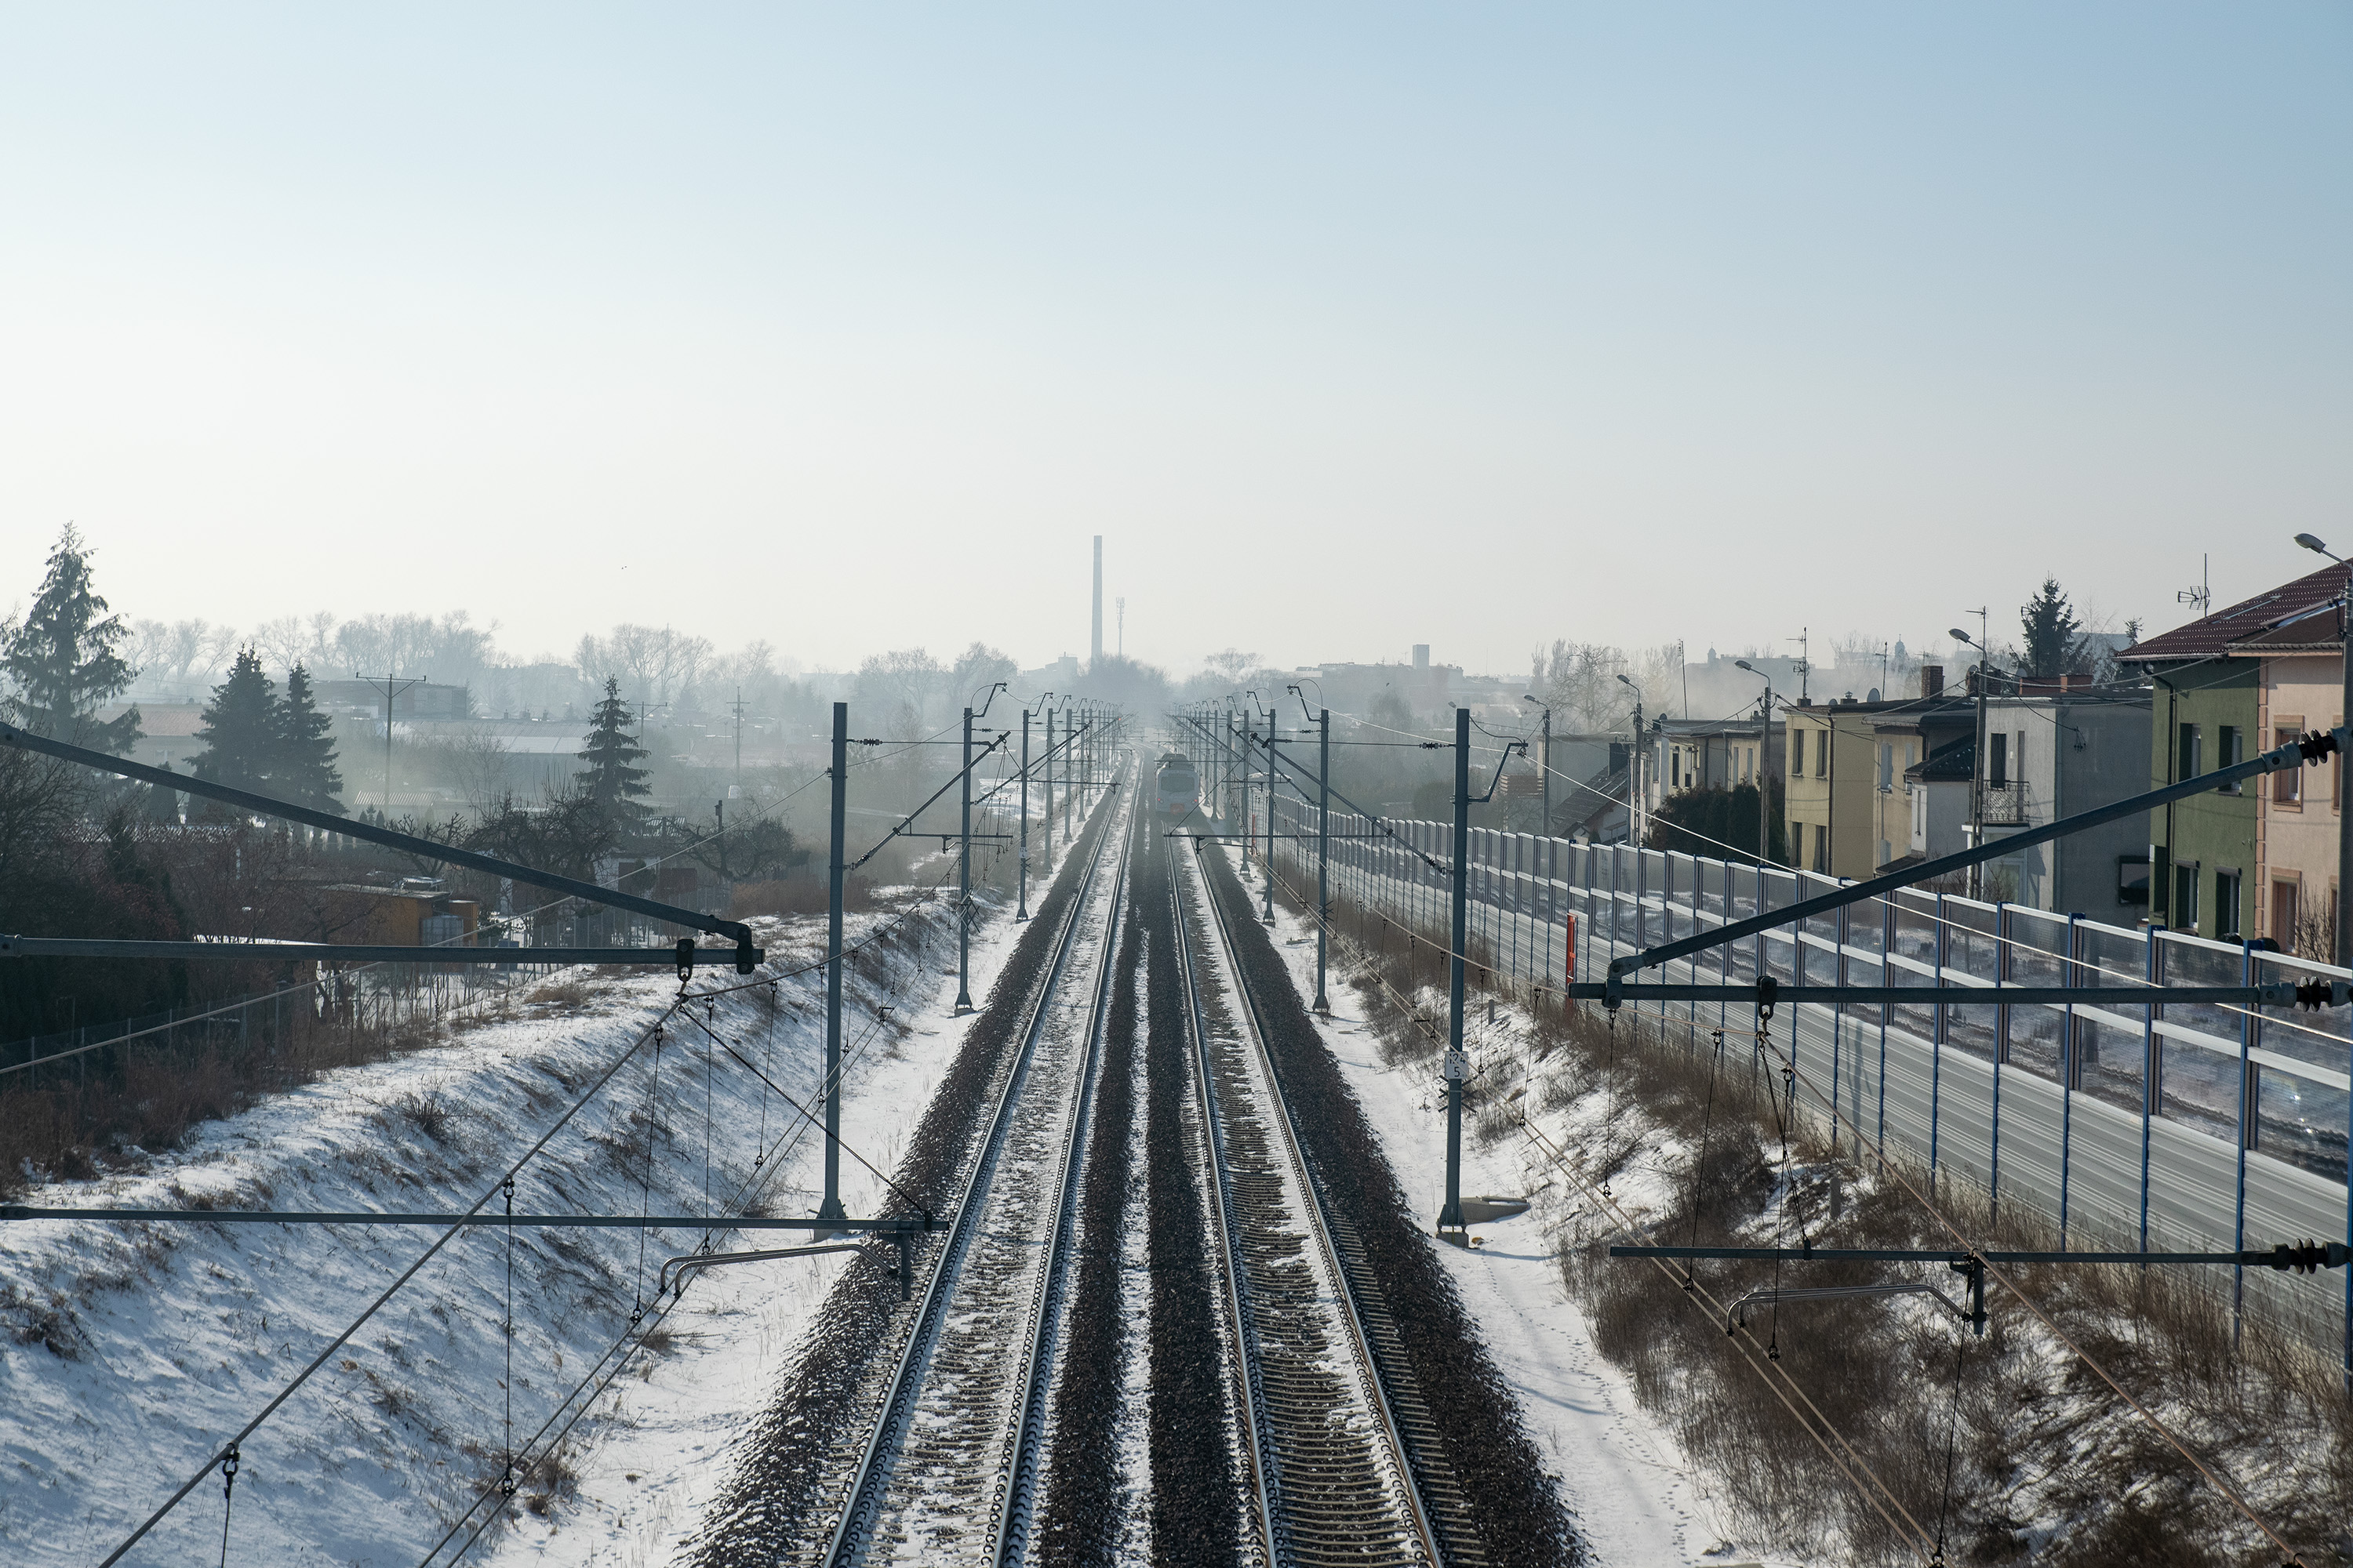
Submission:
<svg viewBox="0 0 2353 1568">
<path fill-rule="evenodd" d="M 1278 867 L 1315 872 L 1315 811 L 1278 802 Z M 1395 837 L 1391 837 L 1395 835 Z M 1424 933 L 1452 922 L 1447 823 L 1332 816 L 1332 896 Z M 1428 856 L 1428 860 L 1424 860 Z M 1431 865 L 1431 860 L 1440 865 Z M 1600 980 L 1617 954 L 1840 886 L 1833 877 L 1631 844 L 1471 830 L 1471 957 L 1520 987 Z M 1901 891 L 1645 971 L 1645 980 L 1984 990 L 1986 1001 L 1795 1004 L 1781 1032 L 1809 1081 L 1889 1152 L 2028 1204 L 2078 1241 L 2245 1248 L 2344 1237 L 2353 1009 L 2038 1006 L 2000 985 L 2245 985 L 2346 978 L 2249 943 L 2108 926 Z M 1635 1006 L 1635 1004 L 1628 1004 Z M 1744 1004 L 1640 1004 L 1673 1037 L 1751 1027 Z M 1824 1128 L 1826 1133 L 1831 1128 Z M 2344 1321 L 2353 1269 L 2235 1272 L 2301 1321 Z"/>
</svg>

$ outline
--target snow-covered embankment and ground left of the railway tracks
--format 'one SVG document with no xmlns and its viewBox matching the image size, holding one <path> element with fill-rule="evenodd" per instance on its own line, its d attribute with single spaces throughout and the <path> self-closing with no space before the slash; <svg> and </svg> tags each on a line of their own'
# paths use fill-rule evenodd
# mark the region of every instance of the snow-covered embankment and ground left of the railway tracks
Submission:
<svg viewBox="0 0 2353 1568">
<path fill-rule="evenodd" d="M 849 931 L 880 924 L 861 917 Z M 779 969 L 807 964 L 816 922 L 767 924 Z M 845 1145 L 889 1168 L 962 1039 L 953 926 L 941 905 L 911 919 L 920 943 L 878 947 L 873 976 L 845 966 Z M 974 936 L 974 987 L 1016 926 Z M 788 950 L 788 952 L 786 952 Z M 946 976 L 941 971 L 948 971 Z M 736 976 L 696 976 L 694 990 Z M 675 994 L 675 978 L 562 971 L 534 983 L 548 1004 L 480 1023 L 447 1044 L 351 1067 L 200 1126 L 181 1152 L 94 1182 L 33 1190 L 26 1204 L 452 1211 L 489 1190 Z M 805 1105 L 821 1070 L 824 973 L 715 1004 L 713 1027 Z M 875 1011 L 889 1004 L 892 1020 Z M 529 1211 L 704 1213 L 755 1178 L 774 1213 L 814 1211 L 821 1138 L 779 1095 L 673 1018 L 647 1178 L 642 1135 L 656 1053 L 640 1046 L 586 1110 L 525 1166 Z M 706 1131 L 708 1128 L 708 1131 Z M 708 1175 L 706 1175 L 708 1135 Z M 882 1206 L 842 1161 L 852 1213 Z M 494 1197 L 485 1215 L 501 1208 Z M 438 1227 L 115 1225 L 21 1220 L 0 1229 L 0 1556 L 89 1563 L 111 1552 L 195 1465 L 233 1436 L 438 1237 Z M 614 1345 L 661 1258 L 699 1232 L 515 1232 L 513 1418 L 518 1443 Z M 788 1246 L 755 1232 L 722 1246 Z M 642 1253 L 642 1262 L 640 1262 Z M 245 1443 L 233 1495 L 233 1561 L 414 1563 L 504 1462 L 506 1234 L 471 1229 L 426 1262 Z M 661 1561 L 725 1474 L 727 1446 L 842 1258 L 706 1269 L 579 1422 L 565 1462 L 576 1497 L 525 1483 L 508 1528 L 475 1556 L 548 1563 Z M 219 1556 L 224 1497 L 205 1476 L 125 1561 Z"/>
</svg>

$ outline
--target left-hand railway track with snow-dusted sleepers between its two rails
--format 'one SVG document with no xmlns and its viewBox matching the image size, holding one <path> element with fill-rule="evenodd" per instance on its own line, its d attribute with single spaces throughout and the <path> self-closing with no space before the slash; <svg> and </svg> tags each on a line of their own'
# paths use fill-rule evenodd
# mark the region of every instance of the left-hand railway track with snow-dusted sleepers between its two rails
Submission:
<svg viewBox="0 0 2353 1568">
<path fill-rule="evenodd" d="M 1134 811 L 1134 788 L 1118 811 Z M 889 1559 L 995 1568 L 1024 1556 L 1129 839 L 1120 820 L 1096 837 L 1068 903 L 816 1559 L 828 1568 Z M 1106 877 L 1111 844 L 1120 849 Z"/>
</svg>

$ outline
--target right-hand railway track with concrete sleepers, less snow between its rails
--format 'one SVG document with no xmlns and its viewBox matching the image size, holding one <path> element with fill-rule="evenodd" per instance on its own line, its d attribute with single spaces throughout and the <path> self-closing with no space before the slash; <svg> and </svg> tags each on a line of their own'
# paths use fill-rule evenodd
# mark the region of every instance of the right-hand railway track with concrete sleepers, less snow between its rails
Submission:
<svg viewBox="0 0 2353 1568">
<path fill-rule="evenodd" d="M 1452 1516 L 1464 1507 L 1452 1476 L 1431 1476 L 1440 1483 L 1431 1497 L 1417 1476 L 1414 1422 L 1428 1427 L 1428 1413 L 1412 1396 L 1400 1408 L 1384 1385 L 1386 1324 L 1367 1326 L 1360 1312 L 1369 1279 L 1355 1279 L 1362 1265 L 1337 1241 L 1351 1232 L 1325 1213 L 1200 851 L 1165 853 L 1181 863 L 1169 900 L 1212 1150 L 1209 1229 L 1233 1333 L 1254 1556 L 1358 1568 L 1485 1561 Z M 1217 994 L 1235 1006 L 1214 1004 Z M 1428 1460 L 1426 1469 L 1442 1472 Z"/>
</svg>

